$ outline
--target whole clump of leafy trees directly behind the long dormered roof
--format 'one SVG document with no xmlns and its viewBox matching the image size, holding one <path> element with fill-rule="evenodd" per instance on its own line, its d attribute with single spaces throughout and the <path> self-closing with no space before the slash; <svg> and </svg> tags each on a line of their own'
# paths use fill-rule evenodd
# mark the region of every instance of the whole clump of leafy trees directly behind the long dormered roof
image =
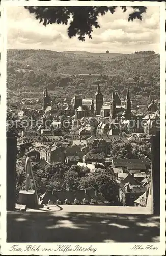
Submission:
<svg viewBox="0 0 166 256">
<path fill-rule="evenodd" d="M 117 200 L 118 187 L 115 177 L 106 169 L 95 169 L 95 173 L 90 173 L 87 167 L 78 165 L 70 167 L 57 162 L 38 165 L 34 170 L 34 179 L 39 196 L 46 190 L 95 189 L 103 193 L 103 196 L 113 204 Z M 17 167 L 17 196 L 21 189 L 25 189 L 25 172 L 22 166 Z"/>
</svg>

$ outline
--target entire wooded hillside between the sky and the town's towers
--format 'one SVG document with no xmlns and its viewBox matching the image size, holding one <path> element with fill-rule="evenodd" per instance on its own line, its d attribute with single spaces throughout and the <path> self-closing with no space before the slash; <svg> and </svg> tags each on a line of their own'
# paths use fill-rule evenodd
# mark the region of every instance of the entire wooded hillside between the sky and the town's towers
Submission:
<svg viewBox="0 0 166 256">
<path fill-rule="evenodd" d="M 147 102 L 149 95 L 159 99 L 160 56 L 154 52 L 133 54 L 56 52 L 48 50 L 8 50 L 7 88 L 12 92 L 41 92 L 45 87 L 54 97 L 75 94 L 92 97 L 100 84 L 106 99 L 115 86 L 121 98 L 132 77 L 131 97 Z M 20 95 L 21 98 L 21 95 Z"/>
</svg>

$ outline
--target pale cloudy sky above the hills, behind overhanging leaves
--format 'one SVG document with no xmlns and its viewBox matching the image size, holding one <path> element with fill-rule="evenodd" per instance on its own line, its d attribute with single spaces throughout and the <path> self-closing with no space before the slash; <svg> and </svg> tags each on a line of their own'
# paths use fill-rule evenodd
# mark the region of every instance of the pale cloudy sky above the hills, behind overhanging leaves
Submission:
<svg viewBox="0 0 166 256">
<path fill-rule="evenodd" d="M 148 7 L 143 20 L 128 22 L 128 8 L 118 7 L 114 14 L 99 17 L 100 28 L 93 30 L 92 40 L 81 42 L 67 35 L 68 25 L 47 25 L 35 19 L 24 7 L 7 9 L 7 48 L 46 49 L 54 51 L 89 51 L 132 53 L 154 50 L 159 53 L 159 7 Z"/>
</svg>

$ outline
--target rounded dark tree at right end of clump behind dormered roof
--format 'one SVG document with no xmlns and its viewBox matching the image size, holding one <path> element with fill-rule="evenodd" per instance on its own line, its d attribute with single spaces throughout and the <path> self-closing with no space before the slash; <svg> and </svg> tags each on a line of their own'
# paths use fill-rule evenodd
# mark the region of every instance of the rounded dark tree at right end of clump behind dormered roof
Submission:
<svg viewBox="0 0 166 256">
<path fill-rule="evenodd" d="M 118 185 L 115 177 L 105 169 L 95 169 L 95 173 L 90 173 L 82 177 L 79 181 L 80 189 L 95 189 L 113 205 L 117 203 Z"/>
</svg>

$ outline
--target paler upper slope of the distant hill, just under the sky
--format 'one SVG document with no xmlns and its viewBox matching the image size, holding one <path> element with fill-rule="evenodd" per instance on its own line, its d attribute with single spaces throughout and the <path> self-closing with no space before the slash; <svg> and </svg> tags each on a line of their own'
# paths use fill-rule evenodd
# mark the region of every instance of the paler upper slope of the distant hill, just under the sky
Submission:
<svg viewBox="0 0 166 256">
<path fill-rule="evenodd" d="M 159 55 L 8 50 L 7 67 L 41 73 L 143 75 L 159 71 Z M 9 70 L 9 69 L 8 69 Z"/>
</svg>

